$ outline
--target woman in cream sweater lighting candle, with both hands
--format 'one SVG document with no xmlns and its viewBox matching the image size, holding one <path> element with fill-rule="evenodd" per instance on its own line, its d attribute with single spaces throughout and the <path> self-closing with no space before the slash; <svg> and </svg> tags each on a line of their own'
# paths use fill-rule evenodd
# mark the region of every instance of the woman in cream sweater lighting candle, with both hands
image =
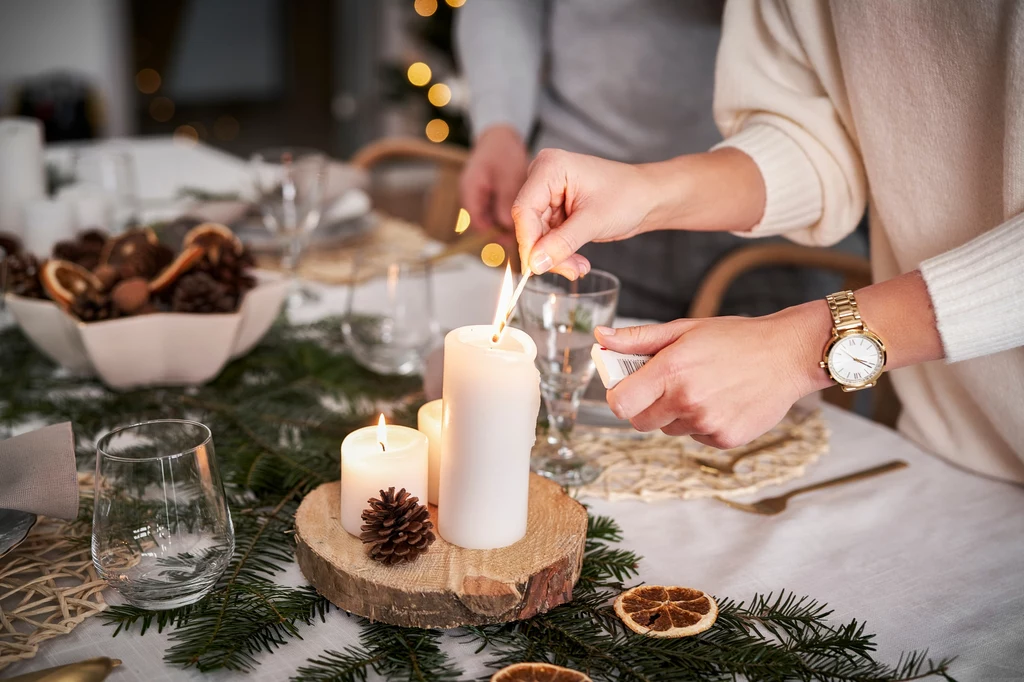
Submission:
<svg viewBox="0 0 1024 682">
<path fill-rule="evenodd" d="M 1024 482 L 1021 102 L 1021 2 L 730 0 L 725 142 L 636 166 L 542 153 L 512 209 L 520 254 L 575 278 L 590 268 L 578 247 L 667 227 L 827 245 L 869 198 L 877 284 L 762 317 L 598 330 L 613 350 L 656 353 L 608 391 L 611 409 L 640 430 L 739 445 L 802 395 L 877 376 L 869 330 L 896 370 L 901 431 Z M 860 338 L 821 367 L 839 327 Z"/>
</svg>

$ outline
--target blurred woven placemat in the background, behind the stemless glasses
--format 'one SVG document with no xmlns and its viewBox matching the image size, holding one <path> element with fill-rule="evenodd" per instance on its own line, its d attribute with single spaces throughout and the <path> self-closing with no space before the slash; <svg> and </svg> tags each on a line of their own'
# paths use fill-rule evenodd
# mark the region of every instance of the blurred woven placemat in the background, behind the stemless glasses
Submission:
<svg viewBox="0 0 1024 682">
<path fill-rule="evenodd" d="M 490 235 L 467 232 L 445 244 L 431 260 L 439 262 L 456 254 L 479 252 L 489 241 L 493 241 Z M 359 284 L 385 274 L 391 259 L 422 255 L 430 250 L 433 241 L 419 225 L 379 215 L 370 229 L 341 246 L 307 250 L 299 261 L 298 275 L 329 285 Z M 366 267 L 367 262 L 360 261 L 362 267 L 357 276 L 356 257 L 365 258 L 368 252 L 377 253 L 380 263 L 371 263 L 370 267 Z M 258 255 L 256 264 L 268 270 L 282 270 L 281 257 L 276 255 Z"/>
</svg>

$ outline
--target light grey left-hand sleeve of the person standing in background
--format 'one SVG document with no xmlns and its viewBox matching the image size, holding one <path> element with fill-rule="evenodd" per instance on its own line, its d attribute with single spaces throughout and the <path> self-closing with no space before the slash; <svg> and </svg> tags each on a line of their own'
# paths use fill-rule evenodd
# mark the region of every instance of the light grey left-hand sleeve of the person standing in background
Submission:
<svg viewBox="0 0 1024 682">
<path fill-rule="evenodd" d="M 544 58 L 547 0 L 473 0 L 456 12 L 473 136 L 507 124 L 529 139 Z"/>
</svg>

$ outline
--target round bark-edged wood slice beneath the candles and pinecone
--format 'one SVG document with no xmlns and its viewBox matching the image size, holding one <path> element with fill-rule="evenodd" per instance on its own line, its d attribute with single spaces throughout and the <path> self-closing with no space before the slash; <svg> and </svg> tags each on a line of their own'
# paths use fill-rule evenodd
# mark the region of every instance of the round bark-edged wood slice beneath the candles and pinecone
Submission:
<svg viewBox="0 0 1024 682">
<path fill-rule="evenodd" d="M 456 628 L 528 619 L 572 598 L 583 566 L 587 511 L 556 483 L 530 474 L 526 536 L 497 550 L 467 550 L 439 536 L 416 561 L 385 566 L 341 527 L 340 484 L 324 483 L 295 515 L 296 559 L 333 604 L 372 621 Z M 437 510 L 430 507 L 437 527 Z"/>
</svg>

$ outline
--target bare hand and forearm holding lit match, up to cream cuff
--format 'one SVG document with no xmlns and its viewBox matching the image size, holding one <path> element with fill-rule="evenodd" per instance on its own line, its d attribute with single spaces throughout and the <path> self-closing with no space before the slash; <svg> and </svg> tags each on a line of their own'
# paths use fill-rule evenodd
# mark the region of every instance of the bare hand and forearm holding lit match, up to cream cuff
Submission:
<svg viewBox="0 0 1024 682">
<path fill-rule="evenodd" d="M 534 272 L 570 280 L 590 271 L 577 254 L 652 229 L 744 230 L 764 212 L 761 171 L 738 150 L 721 148 L 631 166 L 544 150 L 512 204 L 519 255 Z"/>
</svg>

